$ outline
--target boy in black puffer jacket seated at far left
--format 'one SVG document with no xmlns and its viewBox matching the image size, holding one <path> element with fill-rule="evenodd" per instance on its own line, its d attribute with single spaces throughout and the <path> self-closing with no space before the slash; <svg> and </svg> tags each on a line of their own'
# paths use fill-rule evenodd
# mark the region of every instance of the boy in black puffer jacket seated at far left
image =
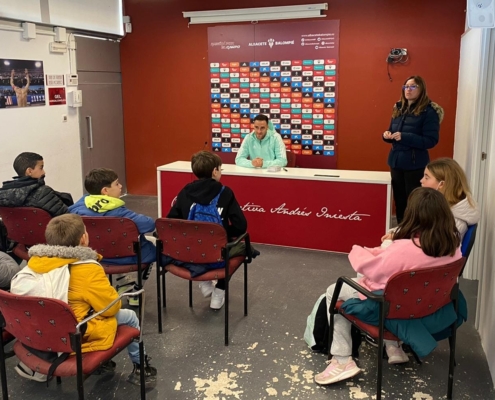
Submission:
<svg viewBox="0 0 495 400">
<path fill-rule="evenodd" d="M 52 216 L 68 212 L 74 204 L 72 196 L 45 185 L 43 157 L 36 153 L 21 153 L 14 160 L 17 176 L 0 188 L 1 207 L 35 207 Z"/>
</svg>

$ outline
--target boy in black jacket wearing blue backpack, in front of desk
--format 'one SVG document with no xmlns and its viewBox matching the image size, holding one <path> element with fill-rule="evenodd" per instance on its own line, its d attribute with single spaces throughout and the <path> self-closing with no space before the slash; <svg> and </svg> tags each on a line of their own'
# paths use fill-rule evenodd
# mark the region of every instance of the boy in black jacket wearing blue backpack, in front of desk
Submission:
<svg viewBox="0 0 495 400">
<path fill-rule="evenodd" d="M 177 201 L 167 218 L 187 219 L 194 203 L 209 204 L 220 192 L 223 185 L 222 160 L 214 153 L 200 151 L 192 156 L 191 167 L 197 181 L 188 183 L 177 196 Z M 218 199 L 218 212 L 229 240 L 242 235 L 247 230 L 247 221 L 232 189 L 225 186 Z M 219 279 L 216 286 L 211 281 L 199 284 L 204 297 L 211 295 L 210 308 L 219 310 L 225 302 L 225 280 Z"/>
</svg>

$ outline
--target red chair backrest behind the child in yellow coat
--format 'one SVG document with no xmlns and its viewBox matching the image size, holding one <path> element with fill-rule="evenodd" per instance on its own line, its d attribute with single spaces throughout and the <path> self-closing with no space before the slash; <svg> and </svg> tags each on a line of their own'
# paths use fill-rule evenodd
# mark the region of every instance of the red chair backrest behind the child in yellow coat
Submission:
<svg viewBox="0 0 495 400">
<path fill-rule="evenodd" d="M 76 332 L 77 319 L 67 303 L 1 290 L 0 313 L 5 329 L 21 343 L 41 351 L 72 352 L 70 334 Z"/>
</svg>

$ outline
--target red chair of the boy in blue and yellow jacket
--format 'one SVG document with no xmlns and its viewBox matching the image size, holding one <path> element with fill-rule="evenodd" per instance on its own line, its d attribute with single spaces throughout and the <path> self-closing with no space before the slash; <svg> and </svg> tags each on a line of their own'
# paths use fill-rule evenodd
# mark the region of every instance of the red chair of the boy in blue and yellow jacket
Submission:
<svg viewBox="0 0 495 400">
<path fill-rule="evenodd" d="M 89 247 L 103 258 L 137 256 L 136 264 L 115 265 L 100 262 L 112 284 L 112 275 L 138 272 L 139 286 L 142 287 L 141 271 L 149 264 L 141 263 L 140 233 L 133 220 L 120 217 L 82 217 L 89 234 Z"/>
</svg>

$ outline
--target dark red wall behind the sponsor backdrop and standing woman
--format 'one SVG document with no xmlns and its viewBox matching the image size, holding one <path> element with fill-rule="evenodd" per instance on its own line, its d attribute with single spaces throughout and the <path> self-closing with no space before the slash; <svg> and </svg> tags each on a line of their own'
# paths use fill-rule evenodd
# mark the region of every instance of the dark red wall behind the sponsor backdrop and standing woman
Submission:
<svg viewBox="0 0 495 400">
<path fill-rule="evenodd" d="M 314 3 L 313 0 L 126 0 L 132 33 L 121 43 L 127 185 L 156 194 L 156 167 L 210 143 L 207 25 L 191 25 L 182 11 Z M 452 156 L 460 37 L 465 0 L 334 0 L 327 18 L 340 20 L 338 168 L 386 171 L 389 145 L 381 140 L 409 75 L 421 75 L 445 110 L 432 158 Z M 283 23 L 283 22 L 280 22 Z M 410 60 L 391 65 L 392 47 Z"/>
</svg>

